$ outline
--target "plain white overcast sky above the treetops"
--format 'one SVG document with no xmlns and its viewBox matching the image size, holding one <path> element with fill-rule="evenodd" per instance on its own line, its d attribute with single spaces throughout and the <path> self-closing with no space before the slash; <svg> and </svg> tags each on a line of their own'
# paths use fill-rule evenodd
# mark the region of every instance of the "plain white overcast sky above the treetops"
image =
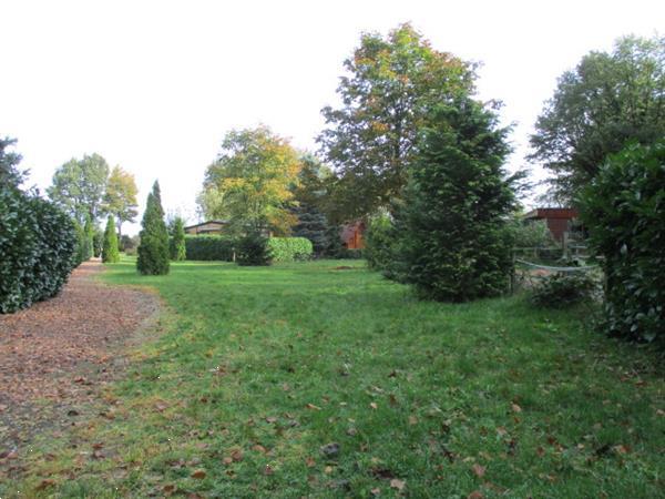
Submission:
<svg viewBox="0 0 665 499">
<path fill-rule="evenodd" d="M 98 152 L 136 175 L 141 205 L 158 179 L 165 210 L 195 221 L 225 132 L 265 123 L 315 150 L 360 32 L 410 21 L 436 49 L 484 64 L 480 96 L 518 124 L 516 167 L 556 78 L 664 20 L 654 0 L 0 0 L 0 135 L 19 140 L 42 190 L 62 163 Z"/>
</svg>

